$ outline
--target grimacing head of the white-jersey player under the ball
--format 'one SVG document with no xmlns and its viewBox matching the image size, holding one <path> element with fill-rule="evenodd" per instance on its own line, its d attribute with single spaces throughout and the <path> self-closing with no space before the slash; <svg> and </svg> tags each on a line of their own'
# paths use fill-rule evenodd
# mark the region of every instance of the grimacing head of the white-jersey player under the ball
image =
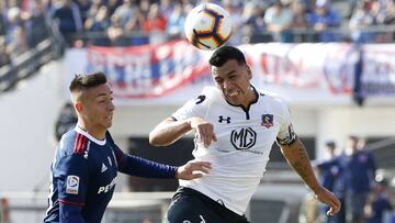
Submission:
<svg viewBox="0 0 395 223">
<path fill-rule="evenodd" d="M 219 47 L 210 58 L 210 65 L 214 82 L 228 102 L 247 107 L 255 99 L 251 69 L 241 51 L 234 46 Z"/>
</svg>

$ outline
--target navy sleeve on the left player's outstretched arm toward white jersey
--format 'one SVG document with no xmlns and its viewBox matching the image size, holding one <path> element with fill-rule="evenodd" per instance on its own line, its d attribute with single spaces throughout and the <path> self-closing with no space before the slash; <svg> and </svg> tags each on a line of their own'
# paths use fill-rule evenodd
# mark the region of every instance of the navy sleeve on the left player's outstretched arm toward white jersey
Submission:
<svg viewBox="0 0 395 223">
<path fill-rule="evenodd" d="M 138 156 L 126 155 L 114 146 L 119 171 L 145 178 L 174 178 L 177 167 L 159 164 Z"/>
</svg>

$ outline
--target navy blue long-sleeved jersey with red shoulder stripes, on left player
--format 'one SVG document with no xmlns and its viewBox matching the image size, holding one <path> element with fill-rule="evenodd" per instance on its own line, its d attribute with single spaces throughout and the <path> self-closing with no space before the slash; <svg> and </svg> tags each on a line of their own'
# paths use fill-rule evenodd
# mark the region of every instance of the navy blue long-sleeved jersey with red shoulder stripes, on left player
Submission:
<svg viewBox="0 0 395 223">
<path fill-rule="evenodd" d="M 109 132 L 98 141 L 78 126 L 66 133 L 52 165 L 45 223 L 99 223 L 116 185 L 117 171 L 138 177 L 174 178 L 177 167 L 125 155 Z"/>
</svg>

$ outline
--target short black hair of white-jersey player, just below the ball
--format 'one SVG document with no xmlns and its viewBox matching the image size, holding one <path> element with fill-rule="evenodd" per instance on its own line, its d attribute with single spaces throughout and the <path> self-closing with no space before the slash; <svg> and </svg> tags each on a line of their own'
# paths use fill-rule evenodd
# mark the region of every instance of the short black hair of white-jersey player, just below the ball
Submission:
<svg viewBox="0 0 395 223">
<path fill-rule="evenodd" d="M 242 52 L 234 46 L 222 46 L 216 49 L 210 58 L 210 64 L 222 67 L 229 59 L 236 59 L 239 65 L 247 64 Z"/>
</svg>

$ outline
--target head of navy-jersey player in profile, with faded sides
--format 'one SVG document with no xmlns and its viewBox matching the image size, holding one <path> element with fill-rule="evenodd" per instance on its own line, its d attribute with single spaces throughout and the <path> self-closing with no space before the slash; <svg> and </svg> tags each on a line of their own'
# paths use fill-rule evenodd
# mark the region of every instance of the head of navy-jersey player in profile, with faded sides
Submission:
<svg viewBox="0 0 395 223">
<path fill-rule="evenodd" d="M 84 127 L 106 130 L 112 125 L 115 108 L 103 73 L 76 75 L 69 89 L 79 122 L 83 122 Z"/>
</svg>

